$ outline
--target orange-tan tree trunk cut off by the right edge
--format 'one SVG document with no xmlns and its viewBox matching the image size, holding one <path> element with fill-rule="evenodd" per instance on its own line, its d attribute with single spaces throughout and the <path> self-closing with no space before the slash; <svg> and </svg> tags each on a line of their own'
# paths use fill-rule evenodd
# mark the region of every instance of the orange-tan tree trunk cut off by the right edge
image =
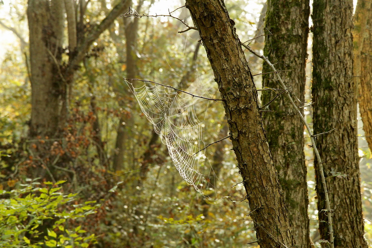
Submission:
<svg viewBox="0 0 372 248">
<path fill-rule="evenodd" d="M 359 0 L 354 15 L 354 77 L 359 88 L 359 111 L 372 151 L 372 2 Z"/>
</svg>

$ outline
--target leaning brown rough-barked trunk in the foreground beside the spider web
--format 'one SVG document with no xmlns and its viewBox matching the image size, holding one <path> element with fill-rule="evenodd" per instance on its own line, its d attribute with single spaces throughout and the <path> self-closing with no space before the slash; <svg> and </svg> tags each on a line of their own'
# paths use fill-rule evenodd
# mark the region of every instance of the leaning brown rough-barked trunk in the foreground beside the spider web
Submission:
<svg viewBox="0 0 372 248">
<path fill-rule="evenodd" d="M 273 159 L 260 115 L 257 90 L 234 21 L 221 0 L 187 0 L 215 75 L 243 177 L 250 216 L 262 248 L 295 247 Z"/>
</svg>

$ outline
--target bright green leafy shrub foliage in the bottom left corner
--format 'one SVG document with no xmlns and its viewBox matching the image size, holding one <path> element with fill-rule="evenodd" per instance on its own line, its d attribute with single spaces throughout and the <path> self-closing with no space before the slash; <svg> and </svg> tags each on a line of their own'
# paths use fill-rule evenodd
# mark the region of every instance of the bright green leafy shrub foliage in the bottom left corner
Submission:
<svg viewBox="0 0 372 248">
<path fill-rule="evenodd" d="M 89 247 L 96 243 L 96 236 L 81 226 L 68 228 L 71 220 L 86 218 L 99 206 L 92 202 L 73 204 L 77 194 L 63 194 L 58 181 L 41 187 L 28 180 L 19 189 L 1 190 L 0 246 L 4 248 L 36 247 Z M 8 185 L 10 183 L 8 182 Z M 10 185 L 12 186 L 12 185 Z M 45 228 L 45 225 L 51 228 Z"/>
</svg>

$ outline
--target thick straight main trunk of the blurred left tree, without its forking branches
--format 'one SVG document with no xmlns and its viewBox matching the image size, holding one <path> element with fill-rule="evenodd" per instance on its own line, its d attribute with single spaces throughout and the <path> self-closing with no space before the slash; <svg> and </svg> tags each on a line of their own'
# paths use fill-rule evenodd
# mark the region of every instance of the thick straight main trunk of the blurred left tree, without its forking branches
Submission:
<svg viewBox="0 0 372 248">
<path fill-rule="evenodd" d="M 66 81 L 61 77 L 63 15 L 61 0 L 29 0 L 28 25 L 31 64 L 30 136 L 58 133 Z"/>
</svg>

